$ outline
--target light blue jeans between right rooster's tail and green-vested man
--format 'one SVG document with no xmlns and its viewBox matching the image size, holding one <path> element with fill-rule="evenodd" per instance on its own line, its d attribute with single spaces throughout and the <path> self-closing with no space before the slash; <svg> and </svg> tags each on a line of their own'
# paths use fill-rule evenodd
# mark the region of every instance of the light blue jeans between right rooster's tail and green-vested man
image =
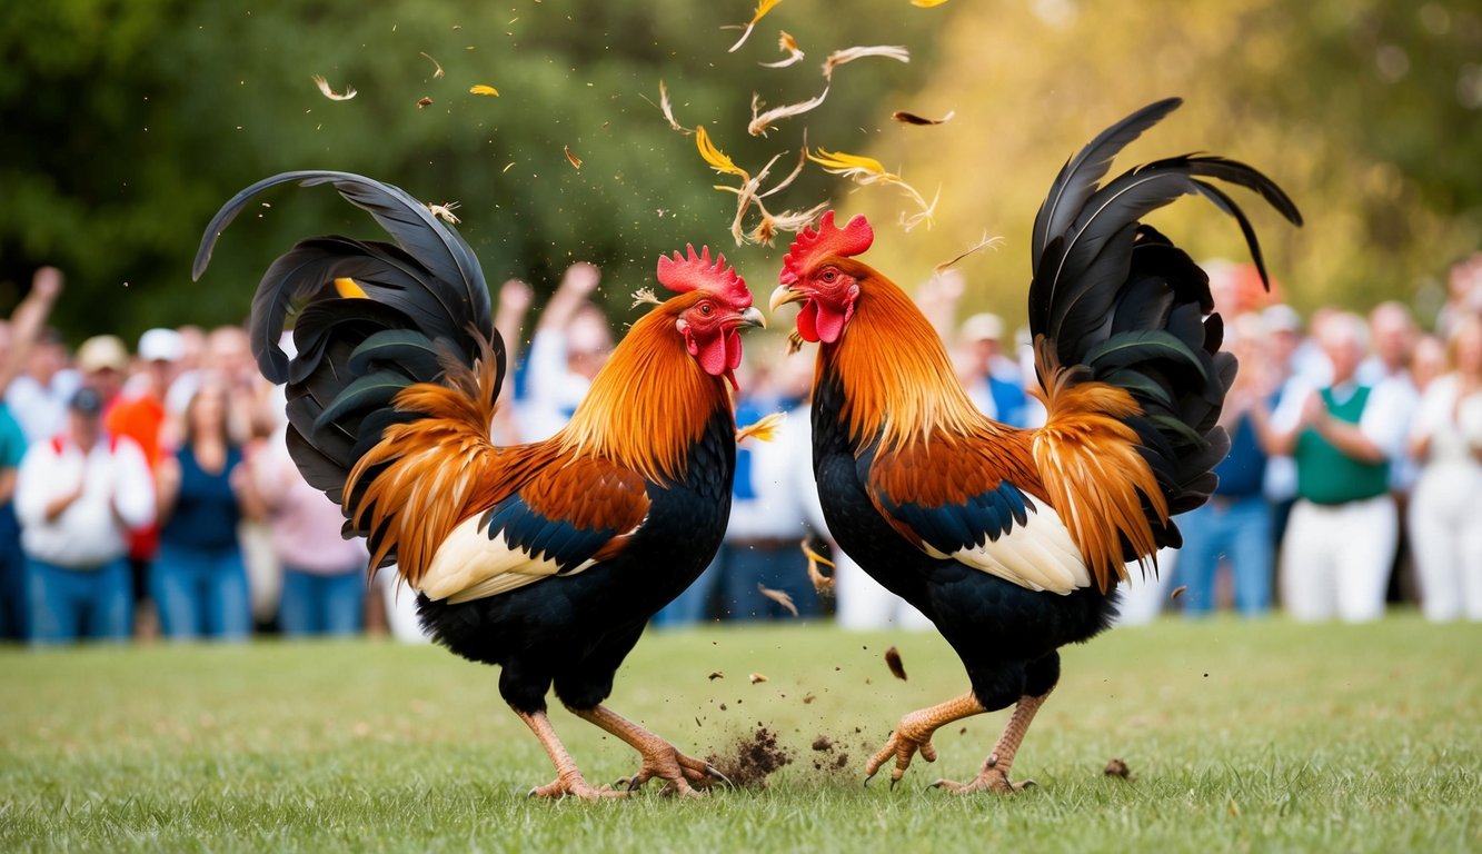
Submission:
<svg viewBox="0 0 1482 854">
<path fill-rule="evenodd" d="M 1178 517 L 1184 547 L 1178 550 L 1175 574 L 1186 586 L 1184 614 L 1199 617 L 1214 611 L 1215 575 L 1220 559 L 1230 559 L 1235 606 L 1245 617 L 1272 609 L 1272 507 L 1261 495 L 1220 498 Z"/>
</svg>

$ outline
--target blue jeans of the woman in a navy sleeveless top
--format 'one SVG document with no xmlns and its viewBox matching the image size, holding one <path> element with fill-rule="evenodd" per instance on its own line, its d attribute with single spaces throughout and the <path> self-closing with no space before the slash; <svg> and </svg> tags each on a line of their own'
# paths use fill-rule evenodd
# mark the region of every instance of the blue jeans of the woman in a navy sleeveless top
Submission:
<svg viewBox="0 0 1482 854">
<path fill-rule="evenodd" d="M 150 568 L 150 596 L 166 638 L 245 640 L 252 633 L 247 568 L 240 546 L 197 549 L 160 543 L 160 555 Z"/>
</svg>

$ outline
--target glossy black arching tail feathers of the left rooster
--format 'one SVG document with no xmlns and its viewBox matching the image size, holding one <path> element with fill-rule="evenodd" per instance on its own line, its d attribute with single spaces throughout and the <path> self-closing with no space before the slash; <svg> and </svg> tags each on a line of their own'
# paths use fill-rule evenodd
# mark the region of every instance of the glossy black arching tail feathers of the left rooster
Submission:
<svg viewBox="0 0 1482 854">
<path fill-rule="evenodd" d="M 354 506 L 344 483 L 356 461 L 387 427 L 415 418 L 393 408 L 396 394 L 440 381 L 445 357 L 471 365 L 489 341 L 496 396 L 504 342 L 464 239 L 406 191 L 348 172 L 285 172 L 237 193 L 206 227 L 193 276 L 205 273 L 221 231 L 249 200 L 293 181 L 333 184 L 396 240 L 301 240 L 268 267 L 252 299 L 253 356 L 268 380 L 288 384 L 289 452 L 310 483 Z M 292 359 L 279 345 L 290 319 Z"/>
</svg>

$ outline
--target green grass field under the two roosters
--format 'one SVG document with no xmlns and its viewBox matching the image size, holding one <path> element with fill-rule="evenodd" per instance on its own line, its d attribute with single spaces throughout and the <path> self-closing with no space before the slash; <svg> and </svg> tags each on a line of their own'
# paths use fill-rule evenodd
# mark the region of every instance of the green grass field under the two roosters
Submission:
<svg viewBox="0 0 1482 854">
<path fill-rule="evenodd" d="M 965 689 L 935 635 L 649 633 L 617 710 L 720 758 L 760 724 L 793 762 L 765 789 L 582 804 L 525 798 L 544 753 L 496 672 L 439 648 L 4 649 L 0 851 L 1478 851 L 1479 651 L 1482 626 L 1412 615 L 1116 630 L 1064 651 L 1015 764 L 1039 787 L 960 798 L 926 784 L 971 777 L 1006 713 L 940 732 L 895 790 L 860 784 L 903 712 Z M 551 718 L 590 780 L 636 768 Z"/>
</svg>

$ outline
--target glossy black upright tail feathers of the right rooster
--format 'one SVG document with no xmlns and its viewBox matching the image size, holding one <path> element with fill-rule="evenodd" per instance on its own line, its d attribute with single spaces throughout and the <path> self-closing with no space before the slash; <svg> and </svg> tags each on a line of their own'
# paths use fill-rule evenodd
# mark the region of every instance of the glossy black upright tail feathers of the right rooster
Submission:
<svg viewBox="0 0 1482 854">
<path fill-rule="evenodd" d="M 1116 154 L 1178 104 L 1159 101 L 1128 116 L 1060 171 L 1034 219 L 1029 297 L 1030 331 L 1049 340 L 1060 365 L 1089 368 L 1086 378 L 1126 390 L 1143 408 L 1129 424 L 1174 513 L 1203 504 L 1215 488 L 1211 470 L 1230 445 L 1220 411 L 1236 365 L 1220 351 L 1224 326 L 1212 313 L 1208 276 L 1140 219 L 1180 196 L 1208 199 L 1239 224 L 1263 282 L 1269 279 L 1255 228 L 1208 179 L 1252 190 L 1301 224 L 1297 206 L 1272 179 L 1224 157 L 1156 160 L 1098 185 Z M 1181 541 L 1152 509 L 1149 520 L 1159 544 Z"/>
</svg>

